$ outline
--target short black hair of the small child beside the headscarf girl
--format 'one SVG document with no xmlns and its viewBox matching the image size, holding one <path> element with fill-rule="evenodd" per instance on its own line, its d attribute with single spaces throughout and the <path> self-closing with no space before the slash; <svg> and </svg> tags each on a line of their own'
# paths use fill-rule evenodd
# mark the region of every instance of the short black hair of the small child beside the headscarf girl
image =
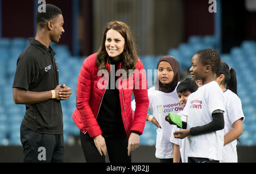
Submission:
<svg viewBox="0 0 256 174">
<path fill-rule="evenodd" d="M 197 89 L 198 89 L 198 86 L 196 82 L 192 80 L 192 78 L 185 78 L 183 81 L 180 82 L 179 85 L 177 85 L 176 92 L 183 93 L 183 92 L 189 91 L 193 93 Z"/>
</svg>

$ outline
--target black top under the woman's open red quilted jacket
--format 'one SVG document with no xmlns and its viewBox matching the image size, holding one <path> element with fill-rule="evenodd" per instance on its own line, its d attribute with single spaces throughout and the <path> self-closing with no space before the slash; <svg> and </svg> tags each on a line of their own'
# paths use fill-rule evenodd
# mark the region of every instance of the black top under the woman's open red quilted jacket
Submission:
<svg viewBox="0 0 256 174">
<path fill-rule="evenodd" d="M 100 111 L 98 113 L 97 122 L 102 130 L 102 136 L 119 136 L 125 135 L 125 128 L 123 126 L 121 105 L 119 99 L 119 90 L 115 86 L 117 77 L 118 62 L 111 62 L 111 69 L 109 75 L 108 86 L 102 98 Z"/>
</svg>

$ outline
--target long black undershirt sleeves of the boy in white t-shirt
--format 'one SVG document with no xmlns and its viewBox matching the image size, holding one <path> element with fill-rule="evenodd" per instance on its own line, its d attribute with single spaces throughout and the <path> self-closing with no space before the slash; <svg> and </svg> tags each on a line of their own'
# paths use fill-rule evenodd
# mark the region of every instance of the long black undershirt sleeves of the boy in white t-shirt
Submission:
<svg viewBox="0 0 256 174">
<path fill-rule="evenodd" d="M 224 129 L 224 115 L 223 113 L 212 114 L 213 121 L 204 126 L 191 127 L 190 135 L 206 134 L 213 131 Z M 187 123 L 182 122 L 183 129 L 187 128 Z"/>
</svg>

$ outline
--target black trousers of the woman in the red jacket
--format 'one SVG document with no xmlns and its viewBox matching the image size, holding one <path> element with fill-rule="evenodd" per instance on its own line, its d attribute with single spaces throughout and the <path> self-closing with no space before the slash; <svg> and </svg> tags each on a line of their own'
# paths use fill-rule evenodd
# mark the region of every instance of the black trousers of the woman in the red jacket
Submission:
<svg viewBox="0 0 256 174">
<path fill-rule="evenodd" d="M 131 163 L 131 155 L 128 156 L 128 138 L 126 134 L 118 136 L 104 136 L 110 163 Z M 80 131 L 80 140 L 87 163 L 105 163 L 105 156 L 98 152 L 93 138 L 88 133 Z"/>
</svg>

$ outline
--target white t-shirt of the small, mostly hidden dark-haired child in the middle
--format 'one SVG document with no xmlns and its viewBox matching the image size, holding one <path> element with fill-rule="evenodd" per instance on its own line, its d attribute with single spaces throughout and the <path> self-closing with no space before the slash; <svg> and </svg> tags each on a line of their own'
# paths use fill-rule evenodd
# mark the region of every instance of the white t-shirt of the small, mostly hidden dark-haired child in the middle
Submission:
<svg viewBox="0 0 256 174">
<path fill-rule="evenodd" d="M 187 122 L 187 117 L 185 115 L 183 115 L 182 113 L 183 113 L 183 111 L 181 111 L 178 114 L 181 117 L 181 121 Z M 177 126 L 173 126 L 172 127 L 172 132 L 178 131 L 178 130 L 181 130 L 181 129 L 179 127 L 177 127 Z M 170 138 L 170 142 L 180 146 L 180 158 L 181 158 L 181 161 L 182 161 L 182 163 L 188 163 L 188 157 L 187 157 L 187 153 L 186 153 L 186 151 L 187 151 L 186 150 L 186 148 L 187 148 L 187 144 L 186 144 L 187 137 L 185 137 L 183 139 L 179 139 L 179 138 L 175 138 L 174 134 L 172 134 L 171 138 Z"/>
</svg>

